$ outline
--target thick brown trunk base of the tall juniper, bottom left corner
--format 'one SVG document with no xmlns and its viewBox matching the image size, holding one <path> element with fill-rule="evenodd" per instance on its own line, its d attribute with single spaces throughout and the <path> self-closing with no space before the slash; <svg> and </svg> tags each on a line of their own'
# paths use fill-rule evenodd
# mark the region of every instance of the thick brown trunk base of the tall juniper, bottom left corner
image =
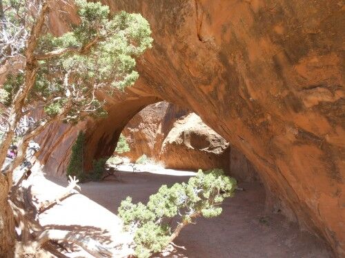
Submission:
<svg viewBox="0 0 345 258">
<path fill-rule="evenodd" d="M 14 217 L 8 204 L 9 182 L 0 172 L 0 257 L 14 257 Z"/>
</svg>

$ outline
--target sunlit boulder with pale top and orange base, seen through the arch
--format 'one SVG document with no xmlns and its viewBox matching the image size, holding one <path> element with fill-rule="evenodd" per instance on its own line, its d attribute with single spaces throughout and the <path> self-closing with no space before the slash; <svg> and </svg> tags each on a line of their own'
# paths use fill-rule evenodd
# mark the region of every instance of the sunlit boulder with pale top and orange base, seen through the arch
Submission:
<svg viewBox="0 0 345 258">
<path fill-rule="evenodd" d="M 168 168 L 228 170 L 229 144 L 194 113 L 177 120 L 161 144 Z"/>
</svg>

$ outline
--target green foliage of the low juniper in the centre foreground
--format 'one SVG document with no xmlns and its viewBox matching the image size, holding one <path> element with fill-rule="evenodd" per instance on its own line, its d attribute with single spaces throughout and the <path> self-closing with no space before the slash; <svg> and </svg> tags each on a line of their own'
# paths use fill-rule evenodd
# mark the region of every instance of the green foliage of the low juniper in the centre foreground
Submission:
<svg viewBox="0 0 345 258">
<path fill-rule="evenodd" d="M 233 196 L 236 180 L 224 175 L 221 169 L 199 170 L 188 184 L 161 186 L 150 196 L 146 205 L 132 204 L 127 197 L 119 207 L 119 217 L 126 230 L 135 230 L 135 254 L 139 258 L 150 257 L 162 250 L 172 240 L 168 223 L 180 216 L 181 223 L 190 224 L 194 217 L 216 217 L 221 214 L 219 205 L 226 197 Z"/>
</svg>

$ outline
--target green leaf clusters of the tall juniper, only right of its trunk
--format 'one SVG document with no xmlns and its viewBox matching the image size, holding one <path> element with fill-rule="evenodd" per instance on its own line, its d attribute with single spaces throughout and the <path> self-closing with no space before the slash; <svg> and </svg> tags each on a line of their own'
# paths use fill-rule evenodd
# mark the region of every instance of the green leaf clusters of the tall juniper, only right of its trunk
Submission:
<svg viewBox="0 0 345 258">
<path fill-rule="evenodd" d="M 63 75 L 68 73 L 70 91 L 85 95 L 73 103 L 68 114 L 71 122 L 83 118 L 83 107 L 90 103 L 88 110 L 93 110 L 95 118 L 105 116 L 102 103 L 92 99 L 94 90 L 105 89 L 112 94 L 114 89 L 133 85 L 139 76 L 135 71 L 135 58 L 152 43 L 150 26 L 141 14 L 119 12 L 111 15 L 108 6 L 101 3 L 75 2 L 81 22 L 72 25 L 72 30 L 62 36 L 42 36 L 37 52 L 66 48 L 83 51 L 67 52 L 59 58 L 41 61 L 35 85 L 41 96 L 64 96 L 66 80 Z"/>
</svg>

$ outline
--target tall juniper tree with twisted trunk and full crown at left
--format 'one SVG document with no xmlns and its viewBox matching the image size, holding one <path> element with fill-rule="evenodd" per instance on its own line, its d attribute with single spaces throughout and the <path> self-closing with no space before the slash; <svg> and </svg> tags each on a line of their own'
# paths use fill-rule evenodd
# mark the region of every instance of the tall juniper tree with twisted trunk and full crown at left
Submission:
<svg viewBox="0 0 345 258">
<path fill-rule="evenodd" d="M 0 0 L 0 64 L 8 68 L 0 91 L 4 107 L 1 129 L 5 128 L 0 164 L 6 159 L 19 122 L 34 109 L 40 107 L 44 114 L 23 133 L 26 141 L 19 146 L 14 168 L 22 162 L 20 153 L 28 140 L 50 122 L 104 116 L 104 103 L 97 93 L 112 94 L 135 83 L 135 58 L 151 46 L 150 27 L 140 14 L 110 14 L 108 6 L 85 0 L 56 2 L 54 6 L 75 5 L 79 15 L 79 22 L 61 36 L 49 32 L 47 17 L 50 12 L 59 12 L 52 9 L 52 0 Z M 7 202 L 8 193 L 14 199 L 16 194 L 11 191 L 12 171 L 0 173 L 0 256 L 5 257 L 12 256 L 14 242 Z M 19 219 L 20 204 L 10 203 Z"/>
</svg>

